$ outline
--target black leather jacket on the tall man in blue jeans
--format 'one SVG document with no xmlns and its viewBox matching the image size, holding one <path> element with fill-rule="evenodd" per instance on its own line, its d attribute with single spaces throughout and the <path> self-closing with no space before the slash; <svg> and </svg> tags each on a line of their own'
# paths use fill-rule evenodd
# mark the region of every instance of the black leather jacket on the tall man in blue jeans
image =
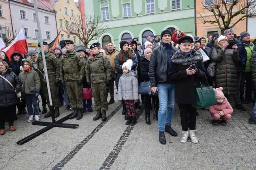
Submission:
<svg viewBox="0 0 256 170">
<path fill-rule="evenodd" d="M 156 87 L 158 83 L 164 83 L 167 81 L 168 52 L 167 47 L 163 44 L 154 48 L 150 57 L 149 76 L 152 87 Z M 169 48 L 171 48 L 173 55 L 178 50 L 178 48 L 172 47 L 171 43 L 169 44 Z"/>
</svg>

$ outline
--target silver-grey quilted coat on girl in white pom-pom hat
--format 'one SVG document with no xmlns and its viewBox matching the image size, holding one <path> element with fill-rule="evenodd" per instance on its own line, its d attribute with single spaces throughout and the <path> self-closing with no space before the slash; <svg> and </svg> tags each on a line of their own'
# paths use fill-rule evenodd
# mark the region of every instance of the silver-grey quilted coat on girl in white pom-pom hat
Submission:
<svg viewBox="0 0 256 170">
<path fill-rule="evenodd" d="M 119 79 L 117 100 L 138 100 L 139 85 L 137 80 L 137 72 L 131 70 L 127 74 L 123 74 Z"/>
</svg>

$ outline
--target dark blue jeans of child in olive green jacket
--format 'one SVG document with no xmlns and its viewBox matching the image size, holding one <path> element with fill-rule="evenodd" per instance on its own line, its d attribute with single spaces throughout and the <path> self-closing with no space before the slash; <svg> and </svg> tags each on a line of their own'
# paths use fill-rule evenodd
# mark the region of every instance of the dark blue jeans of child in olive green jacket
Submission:
<svg viewBox="0 0 256 170">
<path fill-rule="evenodd" d="M 26 103 L 27 103 L 28 115 L 29 116 L 39 115 L 36 94 L 26 94 L 25 98 L 26 98 Z M 33 112 L 32 105 L 34 108 L 34 112 Z"/>
</svg>

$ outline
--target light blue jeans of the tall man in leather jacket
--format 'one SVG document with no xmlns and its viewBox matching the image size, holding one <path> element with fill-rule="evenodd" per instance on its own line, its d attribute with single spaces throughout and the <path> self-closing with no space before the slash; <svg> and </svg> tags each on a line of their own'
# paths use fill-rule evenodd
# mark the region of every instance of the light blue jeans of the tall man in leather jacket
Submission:
<svg viewBox="0 0 256 170">
<path fill-rule="evenodd" d="M 174 110 L 174 84 L 158 84 L 159 111 L 158 130 L 164 131 L 165 125 L 171 125 Z"/>
</svg>

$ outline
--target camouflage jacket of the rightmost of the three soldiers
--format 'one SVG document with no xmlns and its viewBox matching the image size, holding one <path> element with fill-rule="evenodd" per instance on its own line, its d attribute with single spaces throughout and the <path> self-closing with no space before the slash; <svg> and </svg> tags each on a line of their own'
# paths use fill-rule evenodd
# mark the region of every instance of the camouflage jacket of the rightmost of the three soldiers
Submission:
<svg viewBox="0 0 256 170">
<path fill-rule="evenodd" d="M 111 80 L 112 67 L 110 61 L 102 54 L 98 54 L 96 58 L 93 55 L 89 57 L 85 70 L 88 83 L 102 83 Z"/>
</svg>

